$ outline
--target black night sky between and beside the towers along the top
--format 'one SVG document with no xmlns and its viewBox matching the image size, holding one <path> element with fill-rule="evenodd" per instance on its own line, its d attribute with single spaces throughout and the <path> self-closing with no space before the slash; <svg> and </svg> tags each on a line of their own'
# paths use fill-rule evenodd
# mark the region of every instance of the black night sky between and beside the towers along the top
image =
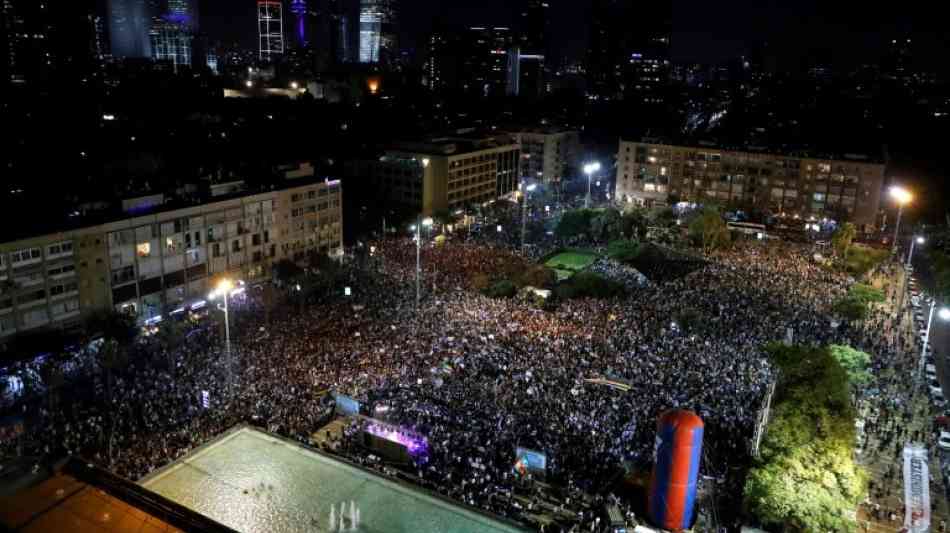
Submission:
<svg viewBox="0 0 950 533">
<path fill-rule="evenodd" d="M 590 18 L 589 0 L 549 0 L 554 47 L 566 58 L 583 59 Z M 505 0 L 402 0 L 400 32 L 411 48 L 437 20 L 448 24 L 514 23 Z M 939 2 L 818 0 L 674 0 L 673 59 L 716 63 L 736 57 L 757 43 L 768 42 L 783 70 L 807 68 L 815 60 L 849 68 L 876 63 L 885 43 L 909 34 L 916 42 L 920 67 L 945 70 L 950 43 L 941 31 L 945 18 Z M 203 0 L 202 26 L 209 36 L 254 47 L 253 0 Z M 631 21 L 636 28 L 640 21 Z M 943 34 L 942 34 L 943 33 Z"/>
</svg>

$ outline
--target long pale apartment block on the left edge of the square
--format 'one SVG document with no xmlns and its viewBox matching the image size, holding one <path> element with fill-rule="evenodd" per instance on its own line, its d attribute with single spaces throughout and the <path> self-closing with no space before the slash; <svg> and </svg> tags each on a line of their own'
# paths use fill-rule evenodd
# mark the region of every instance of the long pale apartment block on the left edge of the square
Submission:
<svg viewBox="0 0 950 533">
<path fill-rule="evenodd" d="M 295 181 L 0 243 L 0 338 L 70 329 L 110 308 L 154 320 L 200 301 L 218 278 L 259 280 L 281 259 L 341 253 L 340 182 Z"/>
</svg>

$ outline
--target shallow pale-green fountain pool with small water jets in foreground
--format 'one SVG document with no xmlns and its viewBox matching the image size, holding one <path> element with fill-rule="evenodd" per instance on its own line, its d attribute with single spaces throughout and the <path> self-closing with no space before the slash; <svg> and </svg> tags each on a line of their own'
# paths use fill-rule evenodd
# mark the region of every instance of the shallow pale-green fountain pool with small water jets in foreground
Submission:
<svg viewBox="0 0 950 533">
<path fill-rule="evenodd" d="M 338 531 L 340 507 L 368 532 L 507 533 L 516 526 L 240 426 L 139 482 L 238 531 Z M 331 517 L 333 524 L 331 526 Z"/>
</svg>

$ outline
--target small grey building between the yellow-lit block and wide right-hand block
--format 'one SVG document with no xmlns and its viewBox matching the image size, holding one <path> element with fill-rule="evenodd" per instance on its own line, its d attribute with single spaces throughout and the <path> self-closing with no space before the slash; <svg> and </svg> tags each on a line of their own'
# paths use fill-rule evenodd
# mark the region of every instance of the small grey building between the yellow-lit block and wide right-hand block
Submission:
<svg viewBox="0 0 950 533">
<path fill-rule="evenodd" d="M 511 131 L 521 145 L 521 177 L 557 184 L 576 168 L 581 152 L 580 133 L 559 128 Z"/>
</svg>

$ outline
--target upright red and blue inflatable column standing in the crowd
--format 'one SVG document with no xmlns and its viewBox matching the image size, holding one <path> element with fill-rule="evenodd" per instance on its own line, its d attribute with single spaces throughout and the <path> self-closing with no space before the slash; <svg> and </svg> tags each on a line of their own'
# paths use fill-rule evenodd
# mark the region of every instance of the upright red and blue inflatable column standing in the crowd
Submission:
<svg viewBox="0 0 950 533">
<path fill-rule="evenodd" d="M 658 527 L 682 531 L 693 524 L 703 427 L 696 413 L 679 409 L 666 411 L 657 420 L 648 510 Z"/>
</svg>

